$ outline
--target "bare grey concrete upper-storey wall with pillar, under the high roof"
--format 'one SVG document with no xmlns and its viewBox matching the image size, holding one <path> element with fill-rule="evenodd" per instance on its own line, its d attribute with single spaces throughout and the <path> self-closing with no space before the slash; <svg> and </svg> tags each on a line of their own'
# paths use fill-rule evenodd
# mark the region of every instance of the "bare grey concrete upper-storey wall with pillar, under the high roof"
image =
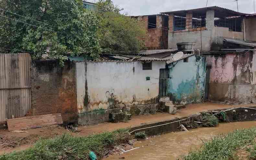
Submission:
<svg viewBox="0 0 256 160">
<path fill-rule="evenodd" d="M 188 15 L 188 14 L 187 14 Z M 171 15 L 169 16 L 170 19 Z M 177 42 L 196 42 L 194 48 L 201 50 L 201 31 L 202 29 L 202 49 L 203 51 L 210 50 L 219 50 L 219 47 L 223 44 L 223 39 L 236 39 L 243 40 L 244 34 L 243 32 L 233 32 L 229 31 L 228 28 L 224 27 L 214 27 L 214 11 L 207 10 L 206 12 L 206 27 L 198 28 L 198 29 L 189 29 L 181 30 L 181 31 L 173 31 L 170 28 L 169 31 L 169 40 L 168 46 L 169 49 L 177 49 Z M 173 19 L 171 17 L 171 19 Z M 187 26 L 186 26 L 187 27 Z M 216 40 L 217 33 L 217 40 Z M 217 42 L 217 44 L 216 44 Z"/>
</svg>

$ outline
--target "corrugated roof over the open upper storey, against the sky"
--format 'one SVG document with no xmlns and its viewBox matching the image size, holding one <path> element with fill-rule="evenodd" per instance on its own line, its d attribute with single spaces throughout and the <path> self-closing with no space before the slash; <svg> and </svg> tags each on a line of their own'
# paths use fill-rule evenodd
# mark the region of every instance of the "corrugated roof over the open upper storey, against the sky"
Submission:
<svg viewBox="0 0 256 160">
<path fill-rule="evenodd" d="M 223 7 L 219 7 L 219 6 L 210 6 L 210 7 L 204 7 L 204 8 L 189 9 L 189 10 L 162 12 L 161 14 L 171 14 L 171 13 L 182 14 L 182 13 L 185 13 L 185 12 L 204 11 L 206 9 L 213 9 L 213 10 L 216 10 L 216 11 L 226 12 L 227 14 L 230 14 L 232 16 L 245 16 L 245 15 L 249 15 L 249 14 L 246 14 L 246 13 L 241 13 L 241 12 L 233 11 L 231 9 L 227 9 L 227 8 L 223 8 Z"/>
</svg>

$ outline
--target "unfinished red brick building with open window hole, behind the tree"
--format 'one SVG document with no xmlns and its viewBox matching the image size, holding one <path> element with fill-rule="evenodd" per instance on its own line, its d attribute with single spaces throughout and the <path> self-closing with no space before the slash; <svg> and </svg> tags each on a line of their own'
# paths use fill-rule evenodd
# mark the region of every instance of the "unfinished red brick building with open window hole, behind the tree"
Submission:
<svg viewBox="0 0 256 160">
<path fill-rule="evenodd" d="M 168 49 L 168 16 L 157 14 L 134 18 L 143 21 L 145 29 L 147 29 L 145 47 L 148 50 Z"/>
</svg>

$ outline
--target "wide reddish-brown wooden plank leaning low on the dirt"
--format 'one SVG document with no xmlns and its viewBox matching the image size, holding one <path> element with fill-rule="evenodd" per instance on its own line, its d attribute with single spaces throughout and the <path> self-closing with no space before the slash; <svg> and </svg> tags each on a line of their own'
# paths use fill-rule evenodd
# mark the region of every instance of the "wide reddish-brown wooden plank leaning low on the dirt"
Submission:
<svg viewBox="0 0 256 160">
<path fill-rule="evenodd" d="M 26 130 L 63 124 L 61 113 L 8 119 L 8 131 Z"/>
</svg>

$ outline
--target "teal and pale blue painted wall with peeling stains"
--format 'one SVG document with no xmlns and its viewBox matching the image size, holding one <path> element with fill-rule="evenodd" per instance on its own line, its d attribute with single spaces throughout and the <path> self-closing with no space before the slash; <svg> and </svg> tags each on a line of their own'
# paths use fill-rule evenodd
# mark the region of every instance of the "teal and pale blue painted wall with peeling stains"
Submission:
<svg viewBox="0 0 256 160">
<path fill-rule="evenodd" d="M 204 100 L 205 57 L 189 57 L 169 65 L 167 92 L 175 104 L 201 103 Z"/>
</svg>

